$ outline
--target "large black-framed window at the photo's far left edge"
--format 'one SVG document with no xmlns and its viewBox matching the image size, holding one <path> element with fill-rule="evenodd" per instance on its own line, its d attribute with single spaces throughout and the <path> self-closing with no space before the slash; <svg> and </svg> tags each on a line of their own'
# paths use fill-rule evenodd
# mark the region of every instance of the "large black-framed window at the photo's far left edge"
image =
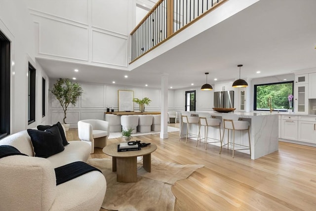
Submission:
<svg viewBox="0 0 316 211">
<path fill-rule="evenodd" d="M 10 40 L 0 31 L 0 139 L 10 134 Z"/>
</svg>

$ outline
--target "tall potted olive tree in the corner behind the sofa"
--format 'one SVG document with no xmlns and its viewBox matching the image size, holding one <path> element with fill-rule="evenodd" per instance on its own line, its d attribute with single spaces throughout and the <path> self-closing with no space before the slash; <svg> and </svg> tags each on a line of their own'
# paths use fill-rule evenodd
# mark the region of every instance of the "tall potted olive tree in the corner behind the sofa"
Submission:
<svg viewBox="0 0 316 211">
<path fill-rule="evenodd" d="M 66 130 L 69 129 L 69 124 L 66 123 L 66 112 L 69 104 L 76 106 L 79 96 L 82 94 L 82 88 L 79 83 L 72 82 L 69 78 L 59 78 L 49 90 L 59 101 L 60 106 L 64 110 L 64 126 Z"/>
</svg>

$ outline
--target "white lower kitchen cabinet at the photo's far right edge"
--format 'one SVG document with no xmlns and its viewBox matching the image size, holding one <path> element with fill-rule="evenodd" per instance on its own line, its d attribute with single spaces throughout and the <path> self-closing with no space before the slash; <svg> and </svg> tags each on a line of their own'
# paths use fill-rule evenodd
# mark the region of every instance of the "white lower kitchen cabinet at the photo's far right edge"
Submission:
<svg viewBox="0 0 316 211">
<path fill-rule="evenodd" d="M 316 117 L 298 117 L 298 141 L 316 143 Z"/>
</svg>

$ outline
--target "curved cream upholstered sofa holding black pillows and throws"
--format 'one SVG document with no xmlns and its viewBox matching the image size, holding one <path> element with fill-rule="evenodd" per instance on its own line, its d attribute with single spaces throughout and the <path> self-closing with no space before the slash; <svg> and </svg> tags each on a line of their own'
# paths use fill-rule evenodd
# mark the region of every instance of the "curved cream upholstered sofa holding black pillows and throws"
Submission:
<svg viewBox="0 0 316 211">
<path fill-rule="evenodd" d="M 0 140 L 23 155 L 0 158 L 0 210 L 2 211 L 99 211 L 106 192 L 102 173 L 92 171 L 56 185 L 54 169 L 76 161 L 86 162 L 90 146 L 69 141 L 64 150 L 48 158 L 34 157 L 28 132 Z"/>
</svg>

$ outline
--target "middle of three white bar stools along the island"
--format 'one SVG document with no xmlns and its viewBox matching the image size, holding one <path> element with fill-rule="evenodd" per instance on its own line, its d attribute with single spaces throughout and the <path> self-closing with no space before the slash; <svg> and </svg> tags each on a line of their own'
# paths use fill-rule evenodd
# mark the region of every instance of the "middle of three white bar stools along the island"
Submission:
<svg viewBox="0 0 316 211">
<path fill-rule="evenodd" d="M 205 143 L 205 149 L 207 149 L 207 143 L 217 143 L 217 142 L 221 142 L 222 143 L 222 135 L 221 135 L 221 121 L 219 119 L 216 118 L 206 118 L 206 117 L 199 117 L 199 134 L 201 134 L 201 126 L 204 126 L 204 138 L 197 140 L 201 141 L 204 140 Z M 208 138 L 208 127 L 219 127 L 219 137 L 220 139 L 214 139 L 214 138 Z M 207 139 L 212 139 L 212 140 L 217 140 L 217 141 L 211 141 L 211 142 L 207 142 Z"/>
</svg>

